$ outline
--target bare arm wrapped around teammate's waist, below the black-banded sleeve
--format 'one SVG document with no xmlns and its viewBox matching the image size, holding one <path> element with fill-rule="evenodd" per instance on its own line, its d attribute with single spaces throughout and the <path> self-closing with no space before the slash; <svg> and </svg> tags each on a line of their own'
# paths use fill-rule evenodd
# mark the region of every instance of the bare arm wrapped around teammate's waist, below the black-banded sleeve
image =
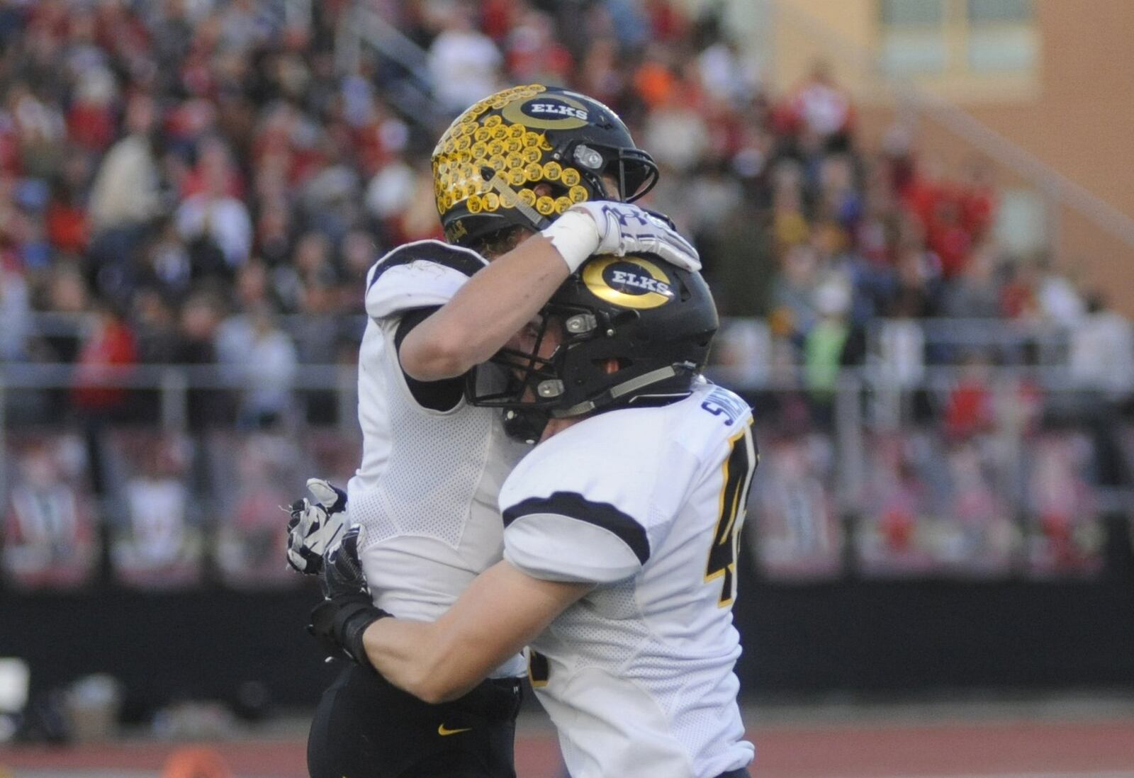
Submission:
<svg viewBox="0 0 1134 778">
<path fill-rule="evenodd" d="M 501 561 L 437 621 L 382 618 L 363 633 L 366 658 L 425 702 L 462 696 L 527 645 L 593 584 L 533 578 Z"/>
</svg>

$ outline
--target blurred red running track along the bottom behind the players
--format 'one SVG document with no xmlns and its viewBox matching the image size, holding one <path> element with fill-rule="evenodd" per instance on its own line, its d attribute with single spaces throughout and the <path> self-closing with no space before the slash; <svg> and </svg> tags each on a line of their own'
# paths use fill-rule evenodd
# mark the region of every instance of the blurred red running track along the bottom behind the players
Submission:
<svg viewBox="0 0 1134 778">
<path fill-rule="evenodd" d="M 758 778 L 1134 778 L 1134 719 L 777 726 L 750 732 Z M 138 742 L 0 749 L 16 778 L 41 770 L 160 771 L 176 746 Z M 304 778 L 302 742 L 213 744 L 238 778 Z M 552 734 L 522 736 L 521 778 L 561 778 Z M 5 776 L 7 778 L 7 776 Z M 659 777 L 665 778 L 665 777 Z"/>
</svg>

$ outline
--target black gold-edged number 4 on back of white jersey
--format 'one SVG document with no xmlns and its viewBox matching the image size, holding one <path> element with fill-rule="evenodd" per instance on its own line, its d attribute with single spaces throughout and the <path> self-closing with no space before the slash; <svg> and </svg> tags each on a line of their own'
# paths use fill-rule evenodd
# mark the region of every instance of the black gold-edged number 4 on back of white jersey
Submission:
<svg viewBox="0 0 1134 778">
<path fill-rule="evenodd" d="M 728 456 L 721 465 L 723 485 L 720 490 L 720 507 L 717 527 L 713 530 L 709 564 L 705 566 L 705 583 L 723 578 L 717 606 L 728 608 L 736 599 L 736 555 L 739 546 L 741 526 L 744 524 L 744 507 L 752 485 L 752 474 L 760 457 L 752 438 L 752 422 L 728 439 Z"/>
</svg>

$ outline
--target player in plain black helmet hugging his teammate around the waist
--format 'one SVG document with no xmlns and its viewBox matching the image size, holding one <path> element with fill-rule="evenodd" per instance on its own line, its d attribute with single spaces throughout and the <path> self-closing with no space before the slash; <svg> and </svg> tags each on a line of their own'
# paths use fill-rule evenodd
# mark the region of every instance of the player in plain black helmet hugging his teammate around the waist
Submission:
<svg viewBox="0 0 1134 778">
<path fill-rule="evenodd" d="M 503 560 L 437 620 L 388 618 L 352 530 L 314 634 L 431 702 L 528 645 L 573 778 L 747 776 L 730 606 L 758 457 L 747 404 L 700 375 L 717 325 L 699 273 L 586 261 L 493 358 L 505 388 L 469 392 L 541 439 L 500 491 Z"/>
</svg>

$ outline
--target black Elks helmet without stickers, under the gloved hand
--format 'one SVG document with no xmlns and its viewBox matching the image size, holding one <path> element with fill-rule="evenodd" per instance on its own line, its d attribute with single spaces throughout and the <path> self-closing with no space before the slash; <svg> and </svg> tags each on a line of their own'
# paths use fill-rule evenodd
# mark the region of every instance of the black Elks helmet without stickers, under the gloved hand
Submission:
<svg viewBox="0 0 1134 778">
<path fill-rule="evenodd" d="M 467 397 L 505 408 L 509 433 L 534 441 L 549 418 L 687 395 L 718 325 L 700 273 L 649 255 L 594 256 L 544 306 L 530 350 L 501 349 L 471 373 Z M 558 345 L 540 356 L 551 328 Z"/>
</svg>

